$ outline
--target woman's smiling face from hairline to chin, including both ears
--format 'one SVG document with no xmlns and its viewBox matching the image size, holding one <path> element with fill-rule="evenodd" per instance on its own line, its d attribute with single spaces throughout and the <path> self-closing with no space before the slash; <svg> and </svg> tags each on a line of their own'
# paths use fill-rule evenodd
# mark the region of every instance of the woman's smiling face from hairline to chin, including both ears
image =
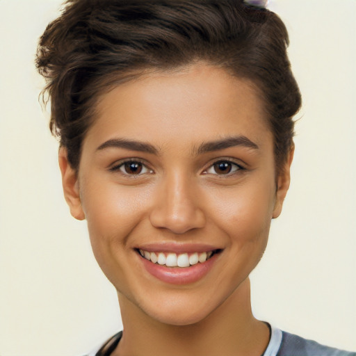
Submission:
<svg viewBox="0 0 356 356">
<path fill-rule="evenodd" d="M 140 312 L 196 323 L 238 293 L 280 213 L 273 136 L 251 83 L 204 65 L 102 95 L 79 174 L 60 153 L 72 215 Z"/>
</svg>

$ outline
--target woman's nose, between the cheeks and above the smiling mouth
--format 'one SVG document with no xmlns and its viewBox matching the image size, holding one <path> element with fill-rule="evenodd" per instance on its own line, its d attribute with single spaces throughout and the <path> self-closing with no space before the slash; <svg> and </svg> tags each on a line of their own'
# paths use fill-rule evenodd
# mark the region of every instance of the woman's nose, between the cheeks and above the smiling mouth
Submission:
<svg viewBox="0 0 356 356">
<path fill-rule="evenodd" d="M 156 191 L 151 224 L 174 234 L 202 228 L 206 219 L 199 202 L 198 190 L 189 179 L 179 174 L 165 179 Z"/>
</svg>

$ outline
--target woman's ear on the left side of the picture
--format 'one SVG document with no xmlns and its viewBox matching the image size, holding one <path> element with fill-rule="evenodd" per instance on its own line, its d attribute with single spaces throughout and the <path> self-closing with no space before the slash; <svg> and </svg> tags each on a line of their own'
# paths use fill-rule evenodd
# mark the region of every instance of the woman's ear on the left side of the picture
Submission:
<svg viewBox="0 0 356 356">
<path fill-rule="evenodd" d="M 81 207 L 81 198 L 79 195 L 79 183 L 77 172 L 70 166 L 67 159 L 67 149 L 60 147 L 58 153 L 58 162 L 60 172 L 62 173 L 62 185 L 65 201 L 70 207 L 70 213 L 77 220 L 86 218 Z"/>
</svg>

